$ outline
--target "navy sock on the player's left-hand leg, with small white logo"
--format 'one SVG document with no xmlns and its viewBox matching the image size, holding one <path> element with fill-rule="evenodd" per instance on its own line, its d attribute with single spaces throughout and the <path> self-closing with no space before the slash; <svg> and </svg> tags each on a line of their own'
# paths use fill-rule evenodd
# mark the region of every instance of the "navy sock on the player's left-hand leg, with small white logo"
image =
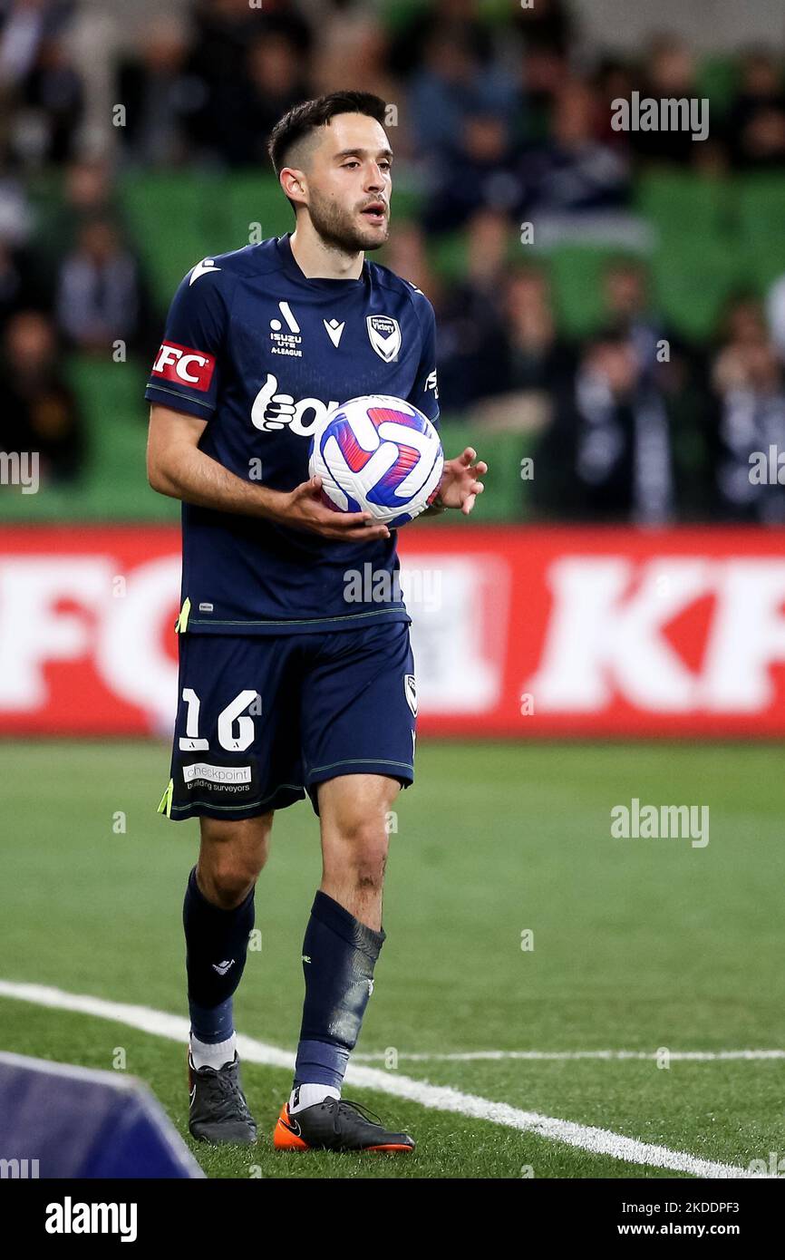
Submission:
<svg viewBox="0 0 785 1260">
<path fill-rule="evenodd" d="M 222 910 L 199 891 L 194 867 L 183 902 L 183 927 L 192 1031 L 200 1042 L 227 1041 L 234 1029 L 232 994 L 243 974 L 253 927 L 253 888 L 234 910 Z"/>
</svg>

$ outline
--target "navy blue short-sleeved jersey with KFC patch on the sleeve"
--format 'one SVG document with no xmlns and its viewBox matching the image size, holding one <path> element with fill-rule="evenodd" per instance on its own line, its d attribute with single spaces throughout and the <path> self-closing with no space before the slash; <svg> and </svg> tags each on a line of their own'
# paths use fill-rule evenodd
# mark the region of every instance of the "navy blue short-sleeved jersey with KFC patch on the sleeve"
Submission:
<svg viewBox="0 0 785 1260">
<path fill-rule="evenodd" d="M 328 408 L 370 393 L 404 398 L 438 422 L 430 301 L 368 260 L 359 280 L 309 280 L 286 234 L 189 272 L 145 398 L 205 420 L 199 449 L 237 476 L 289 491 L 309 478 L 311 433 Z M 373 601 L 373 583 L 362 583 L 368 601 L 355 597 L 357 583 L 353 601 L 345 597 L 347 571 L 373 572 L 375 582 L 397 567 L 394 530 L 344 543 L 183 504 L 188 633 L 408 621 L 399 598 Z"/>
</svg>

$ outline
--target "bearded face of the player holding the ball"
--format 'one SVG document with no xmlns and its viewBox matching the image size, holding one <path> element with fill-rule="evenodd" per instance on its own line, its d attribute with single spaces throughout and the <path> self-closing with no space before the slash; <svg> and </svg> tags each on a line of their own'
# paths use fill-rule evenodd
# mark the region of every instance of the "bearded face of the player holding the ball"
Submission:
<svg viewBox="0 0 785 1260">
<path fill-rule="evenodd" d="M 364 113 L 340 113 L 307 170 L 307 208 L 316 232 L 348 253 L 378 249 L 389 236 L 392 151 L 384 129 Z"/>
</svg>

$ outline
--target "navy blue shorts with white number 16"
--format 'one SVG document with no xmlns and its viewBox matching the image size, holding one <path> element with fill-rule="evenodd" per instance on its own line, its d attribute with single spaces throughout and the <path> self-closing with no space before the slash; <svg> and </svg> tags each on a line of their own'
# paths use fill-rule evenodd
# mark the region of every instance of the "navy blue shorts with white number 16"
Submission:
<svg viewBox="0 0 785 1260">
<path fill-rule="evenodd" d="M 408 625 L 326 634 L 184 634 L 169 818 L 252 818 L 339 775 L 415 777 Z"/>
</svg>

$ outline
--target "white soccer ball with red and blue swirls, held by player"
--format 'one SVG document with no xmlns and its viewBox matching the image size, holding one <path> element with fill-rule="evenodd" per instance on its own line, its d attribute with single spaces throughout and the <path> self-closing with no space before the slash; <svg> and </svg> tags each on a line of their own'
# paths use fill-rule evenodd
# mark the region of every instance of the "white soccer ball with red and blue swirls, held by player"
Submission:
<svg viewBox="0 0 785 1260">
<path fill-rule="evenodd" d="M 336 512 L 369 512 L 393 529 L 438 493 L 444 451 L 433 425 L 411 402 L 387 394 L 333 407 L 314 431 L 310 475 Z"/>
</svg>

